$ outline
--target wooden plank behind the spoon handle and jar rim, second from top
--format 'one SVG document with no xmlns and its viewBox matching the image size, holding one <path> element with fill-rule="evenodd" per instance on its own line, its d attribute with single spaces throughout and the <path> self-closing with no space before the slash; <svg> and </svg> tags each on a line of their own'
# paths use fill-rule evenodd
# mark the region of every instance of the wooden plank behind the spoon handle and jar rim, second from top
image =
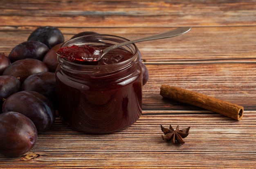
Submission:
<svg viewBox="0 0 256 169">
<path fill-rule="evenodd" d="M 0 27 L 0 51 L 7 55 L 17 44 L 27 40 L 32 27 Z M 69 40 L 74 34 L 94 31 L 134 40 L 162 33 L 170 28 L 59 28 Z M 147 63 L 255 63 L 256 26 L 193 27 L 189 33 L 164 40 L 137 43 Z"/>
</svg>

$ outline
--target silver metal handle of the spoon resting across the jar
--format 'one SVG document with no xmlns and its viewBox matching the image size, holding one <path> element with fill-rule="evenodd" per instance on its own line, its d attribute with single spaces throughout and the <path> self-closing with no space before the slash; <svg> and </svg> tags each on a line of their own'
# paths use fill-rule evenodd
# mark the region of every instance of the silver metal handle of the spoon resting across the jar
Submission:
<svg viewBox="0 0 256 169">
<path fill-rule="evenodd" d="M 118 48 L 120 46 L 124 46 L 124 45 L 127 45 L 127 44 L 133 44 L 133 43 L 136 43 L 136 42 L 144 42 L 144 41 L 148 41 L 148 40 L 158 40 L 158 39 L 164 39 L 164 38 L 168 38 L 168 37 L 174 37 L 174 36 L 178 36 L 178 35 L 182 35 L 184 33 L 187 33 L 190 30 L 191 30 L 191 27 L 181 27 L 181 28 L 173 29 L 173 30 L 168 31 L 168 32 L 159 33 L 157 35 L 144 37 L 144 38 L 141 38 L 141 39 L 138 39 L 138 40 L 132 40 L 132 41 L 123 42 L 123 43 L 120 43 L 120 44 L 115 44 L 115 45 L 109 46 L 108 48 L 103 49 L 99 59 L 101 59 L 104 55 L 106 55 L 106 53 L 108 53 L 110 50 Z"/>
</svg>

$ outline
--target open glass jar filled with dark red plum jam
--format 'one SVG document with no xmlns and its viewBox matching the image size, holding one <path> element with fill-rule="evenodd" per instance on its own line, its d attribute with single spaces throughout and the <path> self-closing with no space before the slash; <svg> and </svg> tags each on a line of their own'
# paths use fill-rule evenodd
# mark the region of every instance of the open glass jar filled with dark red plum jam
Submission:
<svg viewBox="0 0 256 169">
<path fill-rule="evenodd" d="M 86 45 L 102 50 L 126 42 L 112 35 L 87 35 L 65 42 L 61 48 Z M 79 54 L 72 50 L 73 56 Z M 58 53 L 58 52 L 57 52 Z M 81 132 L 116 132 L 135 123 L 142 113 L 142 70 L 134 44 L 111 50 L 99 61 L 79 61 L 58 54 L 56 70 L 59 114 Z"/>
</svg>

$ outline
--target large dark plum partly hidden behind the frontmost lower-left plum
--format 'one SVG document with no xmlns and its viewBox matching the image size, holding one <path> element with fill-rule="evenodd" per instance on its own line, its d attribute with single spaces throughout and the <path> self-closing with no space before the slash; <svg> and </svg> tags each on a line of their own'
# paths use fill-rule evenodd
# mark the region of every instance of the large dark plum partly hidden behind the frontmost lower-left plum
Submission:
<svg viewBox="0 0 256 169">
<path fill-rule="evenodd" d="M 55 121 L 55 110 L 44 95 L 34 91 L 20 91 L 7 97 L 3 112 L 19 112 L 27 116 L 36 126 L 37 132 L 45 132 Z"/>
</svg>

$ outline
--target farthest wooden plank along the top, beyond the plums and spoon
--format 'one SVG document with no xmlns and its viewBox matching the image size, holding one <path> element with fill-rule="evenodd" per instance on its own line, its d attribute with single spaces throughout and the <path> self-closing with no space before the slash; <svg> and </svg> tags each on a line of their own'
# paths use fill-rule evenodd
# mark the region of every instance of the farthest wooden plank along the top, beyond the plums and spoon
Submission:
<svg viewBox="0 0 256 169">
<path fill-rule="evenodd" d="M 1 0 L 0 26 L 255 26 L 255 2 Z"/>
</svg>

